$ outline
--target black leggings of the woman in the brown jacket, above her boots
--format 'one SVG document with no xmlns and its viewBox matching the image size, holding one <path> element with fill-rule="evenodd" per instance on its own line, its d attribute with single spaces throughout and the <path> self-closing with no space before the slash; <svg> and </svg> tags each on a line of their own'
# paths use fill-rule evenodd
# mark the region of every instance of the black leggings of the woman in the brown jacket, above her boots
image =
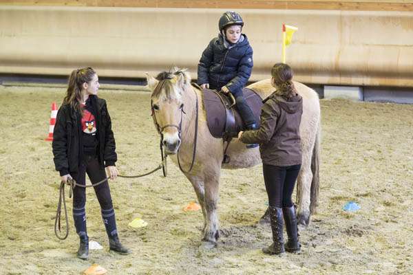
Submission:
<svg viewBox="0 0 413 275">
<path fill-rule="evenodd" d="M 263 164 L 265 188 L 268 204 L 282 208 L 293 206 L 291 195 L 295 186 L 301 164 L 293 166 L 273 166 Z"/>
</svg>

